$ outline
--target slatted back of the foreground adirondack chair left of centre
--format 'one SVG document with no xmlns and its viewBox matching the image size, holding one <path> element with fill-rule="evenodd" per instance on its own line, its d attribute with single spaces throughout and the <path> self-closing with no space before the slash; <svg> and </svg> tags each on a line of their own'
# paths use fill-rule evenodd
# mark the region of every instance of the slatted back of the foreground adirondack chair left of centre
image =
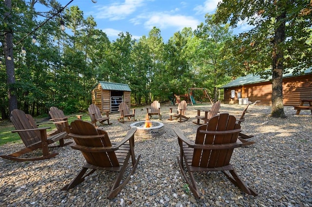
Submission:
<svg viewBox="0 0 312 207">
<path fill-rule="evenodd" d="M 71 123 L 71 133 L 78 135 L 90 135 L 88 138 L 73 137 L 76 144 L 85 147 L 111 147 L 112 143 L 107 132 L 97 130 L 89 122 L 75 120 Z M 92 135 L 102 134 L 102 137 L 92 137 Z M 81 151 L 86 161 L 98 167 L 119 167 L 115 151 Z"/>
</svg>

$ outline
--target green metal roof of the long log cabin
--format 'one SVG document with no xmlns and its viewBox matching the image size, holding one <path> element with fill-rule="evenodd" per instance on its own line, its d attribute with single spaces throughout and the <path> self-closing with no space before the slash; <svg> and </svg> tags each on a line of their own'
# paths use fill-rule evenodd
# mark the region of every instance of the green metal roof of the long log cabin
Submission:
<svg viewBox="0 0 312 207">
<path fill-rule="evenodd" d="M 312 67 L 305 70 L 303 72 L 303 74 L 300 74 L 300 75 L 308 75 L 311 73 L 312 73 Z M 292 70 L 289 70 L 288 73 L 283 75 L 283 78 L 292 77 L 292 76 L 300 76 L 300 75 L 293 75 Z M 249 85 L 249 84 L 254 84 L 254 83 L 262 83 L 262 82 L 270 81 L 271 79 L 272 79 L 272 76 L 269 76 L 267 79 L 265 79 L 265 78 L 261 78 L 260 75 L 249 74 L 246 76 L 236 78 L 235 80 L 231 81 L 230 83 L 228 83 L 224 86 L 221 86 L 220 89 L 231 88 L 231 87 L 236 87 L 236 86 L 244 86 L 244 85 Z"/>
</svg>

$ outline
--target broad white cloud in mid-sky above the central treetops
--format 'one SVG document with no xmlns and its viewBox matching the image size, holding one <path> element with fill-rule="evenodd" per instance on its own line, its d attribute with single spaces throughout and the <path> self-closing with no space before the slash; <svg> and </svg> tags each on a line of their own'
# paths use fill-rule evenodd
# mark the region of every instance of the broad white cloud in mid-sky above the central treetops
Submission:
<svg viewBox="0 0 312 207">
<path fill-rule="evenodd" d="M 184 27 L 196 29 L 199 23 L 197 19 L 191 16 L 156 13 L 151 15 L 148 20 L 145 21 L 144 25 L 148 29 L 152 29 L 156 26 L 160 29 L 174 27 L 178 30 L 182 30 Z"/>
</svg>

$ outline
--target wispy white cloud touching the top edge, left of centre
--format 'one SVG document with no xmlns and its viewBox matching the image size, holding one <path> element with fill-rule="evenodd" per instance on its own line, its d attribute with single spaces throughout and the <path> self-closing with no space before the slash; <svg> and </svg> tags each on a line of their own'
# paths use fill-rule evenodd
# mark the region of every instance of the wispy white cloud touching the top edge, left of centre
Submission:
<svg viewBox="0 0 312 207">
<path fill-rule="evenodd" d="M 98 12 L 93 15 L 97 19 L 118 20 L 136 12 L 138 7 L 144 5 L 144 0 L 125 0 L 122 3 L 113 3 L 109 6 L 98 7 Z"/>
</svg>

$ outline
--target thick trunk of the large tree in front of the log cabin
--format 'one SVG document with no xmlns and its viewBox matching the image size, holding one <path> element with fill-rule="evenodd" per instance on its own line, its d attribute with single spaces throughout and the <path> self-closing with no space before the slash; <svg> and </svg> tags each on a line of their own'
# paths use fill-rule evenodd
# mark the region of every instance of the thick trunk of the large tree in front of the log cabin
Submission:
<svg viewBox="0 0 312 207">
<path fill-rule="evenodd" d="M 283 12 L 276 18 L 272 51 L 272 110 L 271 116 L 285 118 L 283 104 L 283 60 L 285 42 L 285 18 Z"/>
</svg>

